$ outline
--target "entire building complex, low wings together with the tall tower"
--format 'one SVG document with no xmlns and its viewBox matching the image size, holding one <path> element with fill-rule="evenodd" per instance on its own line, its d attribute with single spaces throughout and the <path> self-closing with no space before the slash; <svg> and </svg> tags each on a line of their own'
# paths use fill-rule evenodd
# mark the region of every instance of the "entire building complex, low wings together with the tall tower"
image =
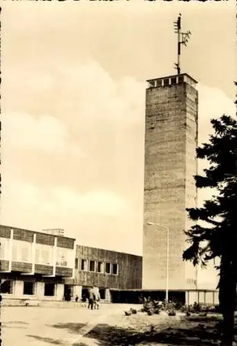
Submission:
<svg viewBox="0 0 237 346">
<path fill-rule="evenodd" d="M 80 299 L 96 286 L 107 302 L 163 300 L 169 290 L 171 300 L 218 303 L 214 287 L 198 288 L 197 269 L 182 260 L 191 226 L 186 208 L 197 203 L 197 82 L 187 74 L 148 82 L 143 257 L 77 245 L 61 229 L 0 226 L 3 298 Z"/>
</svg>

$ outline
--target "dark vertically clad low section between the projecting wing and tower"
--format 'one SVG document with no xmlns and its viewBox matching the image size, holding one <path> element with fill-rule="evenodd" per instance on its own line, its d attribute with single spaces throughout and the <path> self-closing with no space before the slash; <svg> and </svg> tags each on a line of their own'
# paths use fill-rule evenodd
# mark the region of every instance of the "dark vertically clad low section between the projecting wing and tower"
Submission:
<svg viewBox="0 0 237 346">
<path fill-rule="evenodd" d="M 128 253 L 77 245 L 75 278 L 78 293 L 99 287 L 102 299 L 111 301 L 111 291 L 142 288 L 142 257 Z"/>
</svg>

